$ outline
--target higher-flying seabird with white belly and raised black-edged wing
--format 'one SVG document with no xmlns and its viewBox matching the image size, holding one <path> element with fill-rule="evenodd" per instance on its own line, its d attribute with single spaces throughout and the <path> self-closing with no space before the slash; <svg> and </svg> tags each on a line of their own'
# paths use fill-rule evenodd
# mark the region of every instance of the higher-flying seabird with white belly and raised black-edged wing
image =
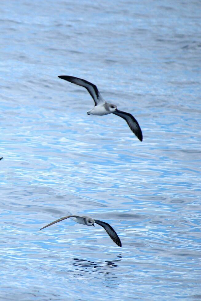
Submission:
<svg viewBox="0 0 201 301">
<path fill-rule="evenodd" d="M 108 115 L 110 113 L 113 113 L 117 116 L 120 116 L 126 120 L 128 123 L 128 126 L 130 127 L 131 131 L 137 136 L 137 138 L 142 141 L 142 131 L 141 128 L 137 122 L 137 120 L 133 117 L 132 114 L 126 113 L 123 111 L 119 111 L 117 109 L 117 106 L 115 104 L 109 104 L 107 103 L 101 96 L 100 92 L 97 89 L 97 86 L 94 84 L 90 83 L 87 80 L 83 80 L 78 77 L 74 76 L 68 76 L 68 75 L 60 75 L 58 76 L 59 78 L 63 80 L 67 80 L 73 84 L 85 87 L 91 97 L 93 98 L 95 102 L 95 106 L 93 109 L 89 110 L 87 112 L 88 115 Z"/>
</svg>

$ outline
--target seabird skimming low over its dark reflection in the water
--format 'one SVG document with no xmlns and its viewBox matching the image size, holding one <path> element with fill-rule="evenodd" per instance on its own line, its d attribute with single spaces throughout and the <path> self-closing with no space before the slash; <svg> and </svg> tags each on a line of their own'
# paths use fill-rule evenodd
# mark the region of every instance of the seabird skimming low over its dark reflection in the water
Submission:
<svg viewBox="0 0 201 301">
<path fill-rule="evenodd" d="M 78 224 L 82 224 L 82 225 L 86 225 L 86 226 L 94 226 L 94 223 L 96 223 L 96 224 L 102 226 L 105 229 L 105 231 L 108 233 L 110 238 L 115 242 L 115 244 L 117 244 L 117 246 L 121 247 L 121 241 L 119 239 L 119 236 L 116 234 L 116 232 L 112 228 L 112 226 L 105 223 L 104 221 L 94 220 L 92 217 L 89 217 L 89 216 L 68 215 L 68 216 L 65 216 L 65 217 L 61 217 L 56 221 L 53 221 L 52 223 L 42 227 L 40 230 L 45 229 L 45 228 L 47 228 L 47 227 L 49 227 L 53 224 L 56 224 L 59 221 L 63 221 L 66 218 L 69 218 L 69 217 L 74 217 L 75 218 L 74 221 Z"/>
</svg>

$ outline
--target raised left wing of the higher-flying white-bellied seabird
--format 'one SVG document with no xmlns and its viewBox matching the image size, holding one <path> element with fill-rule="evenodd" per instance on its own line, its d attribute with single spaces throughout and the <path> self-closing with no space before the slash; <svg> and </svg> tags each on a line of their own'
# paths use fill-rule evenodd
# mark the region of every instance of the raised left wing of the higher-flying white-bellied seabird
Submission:
<svg viewBox="0 0 201 301">
<path fill-rule="evenodd" d="M 99 93 L 97 86 L 95 86 L 94 84 L 90 83 L 87 80 L 83 80 L 81 78 L 78 77 L 74 77 L 74 76 L 68 76 L 68 75 L 60 75 L 58 76 L 59 78 L 63 79 L 63 80 L 67 80 L 73 84 L 85 87 L 87 89 L 87 91 L 89 92 L 89 94 L 91 95 L 91 97 L 93 98 L 94 102 L 95 102 L 95 106 L 97 106 L 97 104 L 101 101 L 104 102 L 101 94 Z"/>
</svg>

